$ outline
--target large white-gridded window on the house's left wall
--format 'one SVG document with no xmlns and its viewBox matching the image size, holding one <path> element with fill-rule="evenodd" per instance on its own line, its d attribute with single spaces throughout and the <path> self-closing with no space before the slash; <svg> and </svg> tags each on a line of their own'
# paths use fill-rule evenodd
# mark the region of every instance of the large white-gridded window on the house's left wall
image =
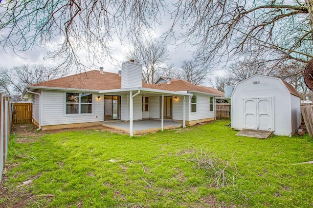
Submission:
<svg viewBox="0 0 313 208">
<path fill-rule="evenodd" d="M 89 93 L 67 93 L 67 114 L 92 113 L 92 94 Z"/>
</svg>

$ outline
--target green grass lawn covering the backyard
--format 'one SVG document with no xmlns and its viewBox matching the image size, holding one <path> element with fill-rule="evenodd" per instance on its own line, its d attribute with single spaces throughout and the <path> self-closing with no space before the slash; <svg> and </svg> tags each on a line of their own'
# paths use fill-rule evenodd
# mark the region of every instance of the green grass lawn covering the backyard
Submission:
<svg viewBox="0 0 313 208">
<path fill-rule="evenodd" d="M 292 165 L 313 160 L 308 135 L 238 137 L 228 123 L 11 135 L 0 207 L 313 207 L 313 165 Z"/>
</svg>

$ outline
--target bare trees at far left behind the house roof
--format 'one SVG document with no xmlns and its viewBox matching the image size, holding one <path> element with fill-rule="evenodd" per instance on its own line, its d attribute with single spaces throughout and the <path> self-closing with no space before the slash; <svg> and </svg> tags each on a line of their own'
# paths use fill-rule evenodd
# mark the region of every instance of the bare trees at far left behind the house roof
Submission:
<svg viewBox="0 0 313 208">
<path fill-rule="evenodd" d="M 12 69 L 0 68 L 0 90 L 8 95 L 21 95 L 25 86 L 67 75 L 60 68 L 40 64 L 23 65 Z"/>
</svg>

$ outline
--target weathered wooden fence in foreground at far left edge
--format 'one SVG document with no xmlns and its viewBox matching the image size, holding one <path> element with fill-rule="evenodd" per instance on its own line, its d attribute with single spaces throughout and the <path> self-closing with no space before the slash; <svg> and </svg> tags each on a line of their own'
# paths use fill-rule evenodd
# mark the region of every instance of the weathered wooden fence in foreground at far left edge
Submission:
<svg viewBox="0 0 313 208">
<path fill-rule="evenodd" d="M 10 97 L 0 94 L 0 182 L 8 152 L 9 134 L 11 131 Z"/>
</svg>

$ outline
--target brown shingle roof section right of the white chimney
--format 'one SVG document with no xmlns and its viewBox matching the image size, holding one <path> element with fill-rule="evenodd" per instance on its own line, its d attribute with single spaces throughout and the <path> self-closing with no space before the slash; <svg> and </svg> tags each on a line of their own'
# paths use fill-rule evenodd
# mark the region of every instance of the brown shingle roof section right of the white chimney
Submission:
<svg viewBox="0 0 313 208">
<path fill-rule="evenodd" d="M 159 89 L 159 90 L 170 90 L 170 91 L 198 91 L 198 92 L 208 93 L 208 94 L 213 94 L 213 95 L 224 95 L 224 93 L 214 88 L 195 85 L 182 79 L 174 79 L 171 81 L 170 84 L 167 84 L 167 83 L 153 84 L 153 85 L 150 85 L 149 88 L 154 88 L 154 89 Z"/>
</svg>

